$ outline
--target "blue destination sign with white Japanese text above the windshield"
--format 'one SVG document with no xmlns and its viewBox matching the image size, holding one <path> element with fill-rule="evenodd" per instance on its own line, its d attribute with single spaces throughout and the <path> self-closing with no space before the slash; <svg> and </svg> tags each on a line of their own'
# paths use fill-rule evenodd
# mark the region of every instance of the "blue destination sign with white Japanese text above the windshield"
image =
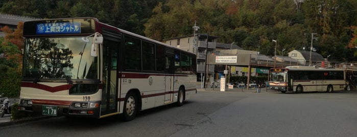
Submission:
<svg viewBox="0 0 357 137">
<path fill-rule="evenodd" d="M 73 34 L 81 33 L 81 22 L 56 22 L 37 24 L 36 34 Z"/>
</svg>

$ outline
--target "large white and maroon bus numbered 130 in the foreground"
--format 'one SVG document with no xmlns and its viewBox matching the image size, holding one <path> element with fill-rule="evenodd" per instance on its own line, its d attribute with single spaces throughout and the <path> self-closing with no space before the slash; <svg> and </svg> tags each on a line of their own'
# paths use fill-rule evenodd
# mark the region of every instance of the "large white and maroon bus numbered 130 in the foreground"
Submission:
<svg viewBox="0 0 357 137">
<path fill-rule="evenodd" d="M 104 118 L 197 93 L 196 55 L 97 18 L 26 21 L 19 110 Z"/>
</svg>

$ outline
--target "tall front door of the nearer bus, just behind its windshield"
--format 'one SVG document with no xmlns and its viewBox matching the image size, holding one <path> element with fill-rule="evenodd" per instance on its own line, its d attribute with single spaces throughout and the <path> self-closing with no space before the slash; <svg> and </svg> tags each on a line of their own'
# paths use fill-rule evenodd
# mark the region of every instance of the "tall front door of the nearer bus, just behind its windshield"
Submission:
<svg viewBox="0 0 357 137">
<path fill-rule="evenodd" d="M 117 109 L 117 47 L 119 43 L 104 39 L 102 67 L 101 116 L 116 112 Z"/>
</svg>

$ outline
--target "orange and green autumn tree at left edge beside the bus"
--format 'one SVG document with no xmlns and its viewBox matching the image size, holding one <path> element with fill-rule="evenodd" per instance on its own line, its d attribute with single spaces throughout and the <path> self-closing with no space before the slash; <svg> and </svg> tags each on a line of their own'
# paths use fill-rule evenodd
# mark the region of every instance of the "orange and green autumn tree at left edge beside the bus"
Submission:
<svg viewBox="0 0 357 137">
<path fill-rule="evenodd" d="M 20 93 L 21 62 L 23 49 L 23 23 L 17 29 L 1 28 L 5 37 L 0 40 L 0 95 L 2 97 L 18 97 Z"/>
</svg>

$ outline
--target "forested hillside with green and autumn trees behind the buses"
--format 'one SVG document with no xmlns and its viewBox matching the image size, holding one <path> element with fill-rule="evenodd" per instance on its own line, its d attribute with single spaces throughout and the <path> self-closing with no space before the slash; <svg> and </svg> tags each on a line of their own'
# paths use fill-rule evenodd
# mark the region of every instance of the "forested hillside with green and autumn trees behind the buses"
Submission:
<svg viewBox="0 0 357 137">
<path fill-rule="evenodd" d="M 97 17 L 156 40 L 198 33 L 277 55 L 313 47 L 329 61 L 357 61 L 355 0 L 3 0 L 0 12 L 39 18 Z"/>
</svg>

